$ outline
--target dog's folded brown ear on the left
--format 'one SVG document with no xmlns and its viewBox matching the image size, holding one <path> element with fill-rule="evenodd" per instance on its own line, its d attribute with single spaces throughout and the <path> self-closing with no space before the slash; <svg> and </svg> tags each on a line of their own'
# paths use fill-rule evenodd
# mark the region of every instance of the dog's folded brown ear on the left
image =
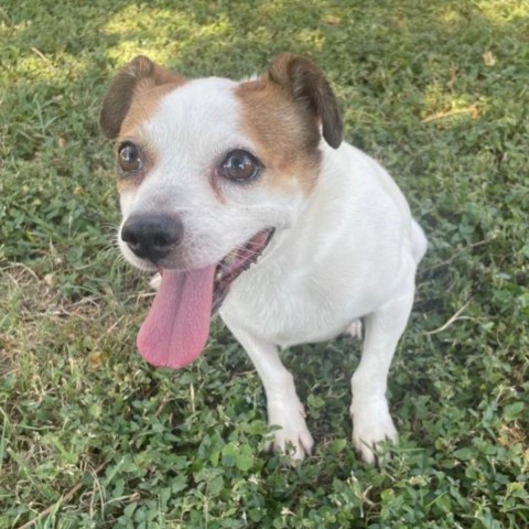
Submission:
<svg viewBox="0 0 529 529">
<path fill-rule="evenodd" d="M 182 83 L 184 77 L 162 68 L 150 58 L 133 58 L 110 84 L 99 114 L 99 126 L 107 138 L 119 134 L 121 123 L 138 95 L 166 83 Z"/>
</svg>

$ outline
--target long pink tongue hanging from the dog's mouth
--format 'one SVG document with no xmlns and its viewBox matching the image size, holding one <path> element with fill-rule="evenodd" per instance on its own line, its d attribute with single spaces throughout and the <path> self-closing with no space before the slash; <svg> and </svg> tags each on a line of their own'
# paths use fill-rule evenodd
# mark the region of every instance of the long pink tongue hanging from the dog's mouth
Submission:
<svg viewBox="0 0 529 529">
<path fill-rule="evenodd" d="M 179 368 L 198 357 L 209 335 L 214 276 L 215 264 L 186 272 L 163 270 L 137 339 L 147 361 Z"/>
</svg>

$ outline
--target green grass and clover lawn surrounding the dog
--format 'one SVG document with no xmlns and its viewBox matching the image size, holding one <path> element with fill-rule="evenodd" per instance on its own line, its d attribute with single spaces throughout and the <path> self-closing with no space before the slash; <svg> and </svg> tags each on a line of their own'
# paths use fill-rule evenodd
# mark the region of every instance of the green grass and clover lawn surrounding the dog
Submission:
<svg viewBox="0 0 529 529">
<path fill-rule="evenodd" d="M 0 528 L 529 527 L 528 24 L 521 0 L 4 1 Z M 150 299 L 112 245 L 105 86 L 139 53 L 239 77 L 281 51 L 325 69 L 431 242 L 381 468 L 349 442 L 348 341 L 284 355 L 317 442 L 299 467 L 261 452 L 219 324 L 187 369 L 134 350 Z"/>
</svg>

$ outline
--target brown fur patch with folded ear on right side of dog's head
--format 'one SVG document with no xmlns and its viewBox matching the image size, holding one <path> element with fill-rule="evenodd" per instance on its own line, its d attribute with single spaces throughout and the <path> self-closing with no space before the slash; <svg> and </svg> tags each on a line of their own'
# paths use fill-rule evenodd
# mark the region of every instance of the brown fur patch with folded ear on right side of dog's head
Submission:
<svg viewBox="0 0 529 529">
<path fill-rule="evenodd" d="M 256 80 L 240 85 L 241 127 L 258 145 L 257 156 L 267 168 L 267 185 L 301 184 L 305 194 L 320 171 L 323 138 L 337 148 L 342 120 L 323 74 L 307 58 L 282 54 Z"/>
</svg>

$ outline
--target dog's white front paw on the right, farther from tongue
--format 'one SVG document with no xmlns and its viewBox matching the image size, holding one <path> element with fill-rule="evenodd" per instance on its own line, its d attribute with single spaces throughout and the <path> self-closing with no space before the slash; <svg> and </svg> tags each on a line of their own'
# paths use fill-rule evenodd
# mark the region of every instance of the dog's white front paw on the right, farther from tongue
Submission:
<svg viewBox="0 0 529 529">
<path fill-rule="evenodd" d="M 381 463 L 379 443 L 398 440 L 397 429 L 389 414 L 388 402 L 380 399 L 374 402 L 350 406 L 353 419 L 353 444 L 366 463 Z"/>
</svg>

